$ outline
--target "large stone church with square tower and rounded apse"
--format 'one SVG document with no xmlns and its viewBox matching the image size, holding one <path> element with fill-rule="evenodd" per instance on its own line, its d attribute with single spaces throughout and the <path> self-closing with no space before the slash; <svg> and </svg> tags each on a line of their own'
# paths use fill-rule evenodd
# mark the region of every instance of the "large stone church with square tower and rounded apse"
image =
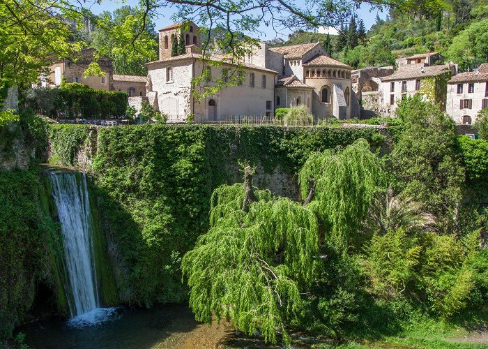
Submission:
<svg viewBox="0 0 488 349">
<path fill-rule="evenodd" d="M 185 52 L 171 57 L 173 40 L 185 38 Z M 169 122 L 224 121 L 231 116 L 269 116 L 276 108 L 305 105 L 314 119 L 351 117 L 351 67 L 331 59 L 319 43 L 268 47 L 264 42 L 241 61 L 244 76 L 234 85 L 198 100 L 192 88 L 203 91 L 227 81 L 235 71 L 224 57 L 211 55 L 209 65 L 201 55 L 199 28 L 192 22 L 173 24 L 159 31 L 159 60 L 149 62 L 146 96 Z M 206 69 L 206 70 L 204 70 Z M 234 69 L 234 70 L 233 70 Z M 206 79 L 192 87 L 193 79 L 206 71 Z M 213 79 L 215 77 L 215 79 Z"/>
</svg>

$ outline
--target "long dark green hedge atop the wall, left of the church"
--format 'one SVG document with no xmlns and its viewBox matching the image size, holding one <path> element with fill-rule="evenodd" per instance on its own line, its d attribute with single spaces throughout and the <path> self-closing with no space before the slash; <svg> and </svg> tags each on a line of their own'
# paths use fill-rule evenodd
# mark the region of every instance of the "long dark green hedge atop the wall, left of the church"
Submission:
<svg viewBox="0 0 488 349">
<path fill-rule="evenodd" d="M 119 119 L 125 116 L 128 96 L 72 82 L 55 89 L 30 89 L 25 104 L 54 119 Z"/>
</svg>

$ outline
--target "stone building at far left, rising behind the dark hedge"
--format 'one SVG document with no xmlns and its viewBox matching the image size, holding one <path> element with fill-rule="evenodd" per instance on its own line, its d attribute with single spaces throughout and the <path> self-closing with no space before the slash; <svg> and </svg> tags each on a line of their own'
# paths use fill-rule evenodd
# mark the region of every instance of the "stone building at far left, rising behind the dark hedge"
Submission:
<svg viewBox="0 0 488 349">
<path fill-rule="evenodd" d="M 49 76 L 40 77 L 41 87 L 56 87 L 61 85 L 63 77 L 66 78 L 66 82 L 79 82 L 80 84 L 86 84 L 92 89 L 103 89 L 105 91 L 112 91 L 112 75 L 113 67 L 112 60 L 108 57 L 100 57 L 98 64 L 105 73 L 104 77 L 89 76 L 84 77 L 84 71 L 88 68 L 89 64 L 93 61 L 93 48 L 85 49 L 79 52 L 79 56 L 74 61 L 70 59 L 60 59 L 54 61 L 52 66 L 49 67 Z"/>
</svg>

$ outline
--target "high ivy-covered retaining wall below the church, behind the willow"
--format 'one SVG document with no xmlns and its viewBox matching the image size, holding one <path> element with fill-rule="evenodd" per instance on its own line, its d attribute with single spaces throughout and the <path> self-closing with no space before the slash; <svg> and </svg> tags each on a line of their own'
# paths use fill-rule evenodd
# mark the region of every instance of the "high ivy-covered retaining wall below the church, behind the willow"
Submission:
<svg viewBox="0 0 488 349">
<path fill-rule="evenodd" d="M 82 137 L 79 126 L 54 130 L 51 161 L 77 165 L 74 154 L 89 136 Z M 294 175 L 307 156 L 358 138 L 374 146 L 384 140 L 374 128 L 100 128 L 89 173 L 121 301 L 152 304 L 187 297 L 180 258 L 207 228 L 213 189 L 241 181 L 245 164 L 257 167 L 254 184 L 298 199 Z"/>
</svg>

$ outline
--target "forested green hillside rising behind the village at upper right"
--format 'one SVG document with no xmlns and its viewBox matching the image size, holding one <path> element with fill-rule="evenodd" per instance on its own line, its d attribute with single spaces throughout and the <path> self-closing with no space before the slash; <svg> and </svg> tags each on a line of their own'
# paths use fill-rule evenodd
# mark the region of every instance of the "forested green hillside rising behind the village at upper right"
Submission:
<svg viewBox="0 0 488 349">
<path fill-rule="evenodd" d="M 403 54 L 440 52 L 461 70 L 473 69 L 488 61 L 488 3 L 425 1 L 421 10 L 396 8 L 386 20 L 377 16 L 365 35 L 361 19 L 353 18 L 337 36 L 298 31 L 286 42 L 273 40 L 270 45 L 311 42 L 322 43 L 333 58 L 353 68 L 393 65 Z"/>
</svg>

